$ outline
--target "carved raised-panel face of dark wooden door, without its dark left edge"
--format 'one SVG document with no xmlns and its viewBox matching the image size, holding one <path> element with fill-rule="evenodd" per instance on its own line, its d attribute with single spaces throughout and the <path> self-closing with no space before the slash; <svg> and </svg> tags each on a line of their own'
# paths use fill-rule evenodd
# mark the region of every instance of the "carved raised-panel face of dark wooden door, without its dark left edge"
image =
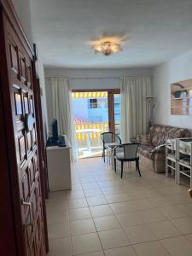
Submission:
<svg viewBox="0 0 192 256">
<path fill-rule="evenodd" d="M 26 255 L 44 256 L 44 216 L 32 84 L 32 53 L 26 50 L 9 21 L 4 21 L 22 232 Z"/>
</svg>

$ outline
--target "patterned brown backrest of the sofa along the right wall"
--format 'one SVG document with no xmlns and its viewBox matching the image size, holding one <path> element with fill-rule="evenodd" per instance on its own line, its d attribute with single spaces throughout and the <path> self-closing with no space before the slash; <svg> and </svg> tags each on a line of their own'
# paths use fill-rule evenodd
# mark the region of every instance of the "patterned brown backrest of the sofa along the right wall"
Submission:
<svg viewBox="0 0 192 256">
<path fill-rule="evenodd" d="M 154 147 L 166 143 L 166 137 L 190 137 L 190 132 L 185 128 L 178 128 L 166 125 L 152 125 L 149 130 L 150 141 Z"/>
</svg>

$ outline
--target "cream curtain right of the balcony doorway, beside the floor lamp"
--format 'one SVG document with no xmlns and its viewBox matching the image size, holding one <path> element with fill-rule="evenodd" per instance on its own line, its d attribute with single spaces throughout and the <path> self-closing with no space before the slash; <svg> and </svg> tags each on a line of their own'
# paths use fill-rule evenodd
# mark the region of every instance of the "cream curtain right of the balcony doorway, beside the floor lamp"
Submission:
<svg viewBox="0 0 192 256">
<path fill-rule="evenodd" d="M 129 143 L 131 137 L 148 131 L 148 102 L 151 96 L 150 76 L 128 76 L 121 85 L 121 137 Z"/>
</svg>

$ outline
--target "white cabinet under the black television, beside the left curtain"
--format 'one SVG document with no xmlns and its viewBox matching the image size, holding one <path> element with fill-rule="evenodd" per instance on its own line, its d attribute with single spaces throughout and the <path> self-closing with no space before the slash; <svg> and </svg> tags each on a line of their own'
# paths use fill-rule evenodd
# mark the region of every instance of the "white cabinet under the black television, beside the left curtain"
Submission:
<svg viewBox="0 0 192 256">
<path fill-rule="evenodd" d="M 72 189 L 70 147 L 47 148 L 49 190 Z"/>
</svg>

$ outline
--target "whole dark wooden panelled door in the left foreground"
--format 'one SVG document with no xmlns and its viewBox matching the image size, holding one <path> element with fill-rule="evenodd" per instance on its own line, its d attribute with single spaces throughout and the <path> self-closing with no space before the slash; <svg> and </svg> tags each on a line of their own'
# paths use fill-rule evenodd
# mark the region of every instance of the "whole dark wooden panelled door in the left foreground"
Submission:
<svg viewBox="0 0 192 256">
<path fill-rule="evenodd" d="M 8 85 L 7 88 L 4 86 L 3 104 L 18 251 L 20 256 L 44 256 L 44 213 L 37 136 L 39 120 L 35 113 L 32 50 L 18 26 L 4 13 L 1 39 L 5 49 L 5 55 L 2 55 L 3 83 Z"/>
</svg>

